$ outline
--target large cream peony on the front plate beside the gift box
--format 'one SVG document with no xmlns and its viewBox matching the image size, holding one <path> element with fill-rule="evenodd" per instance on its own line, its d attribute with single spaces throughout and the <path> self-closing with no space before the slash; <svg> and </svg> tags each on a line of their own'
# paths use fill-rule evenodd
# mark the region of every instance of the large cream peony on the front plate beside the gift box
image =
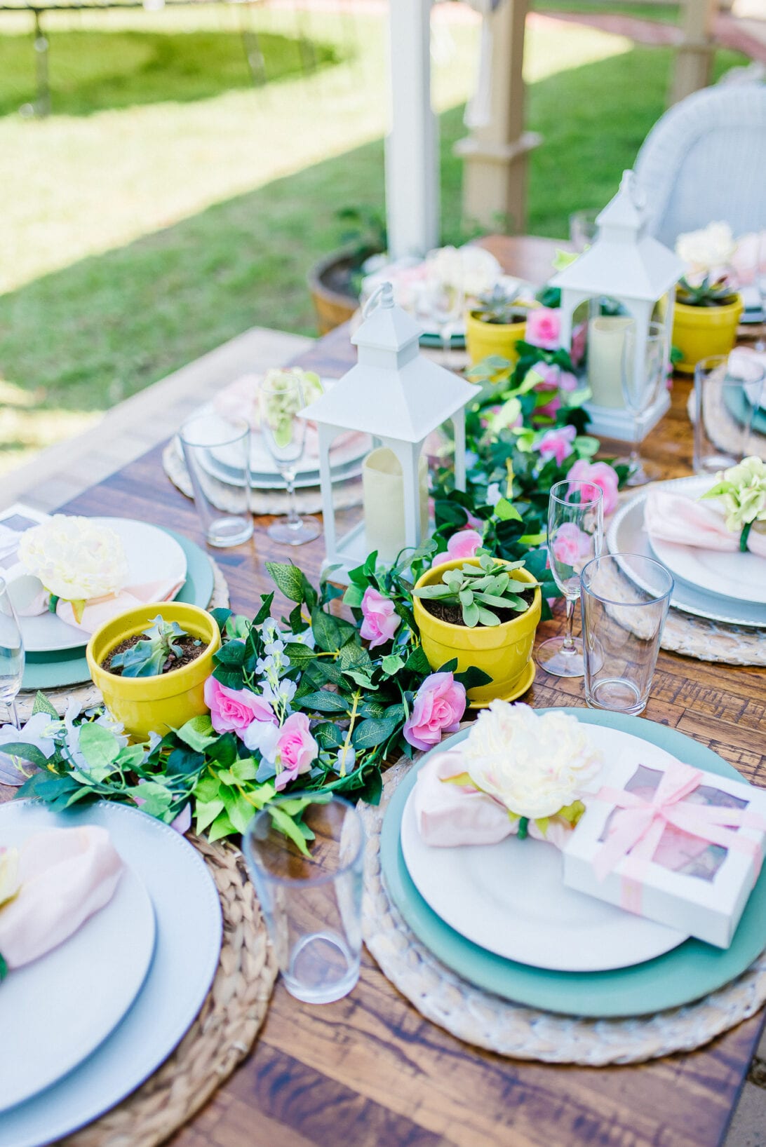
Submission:
<svg viewBox="0 0 766 1147">
<path fill-rule="evenodd" d="M 477 788 L 531 820 L 579 799 L 602 764 L 575 717 L 508 701 L 493 701 L 479 713 L 463 759 Z"/>
</svg>

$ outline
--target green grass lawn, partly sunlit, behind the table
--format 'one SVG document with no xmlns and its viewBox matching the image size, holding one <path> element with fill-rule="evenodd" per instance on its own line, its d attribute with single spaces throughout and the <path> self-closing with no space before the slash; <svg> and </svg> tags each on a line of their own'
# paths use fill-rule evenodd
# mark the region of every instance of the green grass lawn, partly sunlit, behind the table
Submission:
<svg viewBox="0 0 766 1147">
<path fill-rule="evenodd" d="M 314 15 L 322 68 L 304 77 L 289 14 L 264 14 L 277 81 L 253 91 L 231 14 L 187 13 L 175 34 L 178 11 L 138 14 L 139 28 L 109 15 L 54 30 L 45 122 L 15 111 L 32 93 L 29 41 L 0 34 L 0 149 L 13 158 L 0 181 L 0 469 L 250 326 L 312 334 L 305 273 L 338 242 L 336 208 L 382 206 L 379 19 Z M 461 30 L 435 68 L 450 237 L 474 45 Z M 737 62 L 721 52 L 717 72 Z M 527 119 L 544 142 L 528 232 L 564 235 L 571 211 L 614 193 L 663 111 L 670 65 L 665 48 L 585 26 L 531 29 Z"/>
</svg>

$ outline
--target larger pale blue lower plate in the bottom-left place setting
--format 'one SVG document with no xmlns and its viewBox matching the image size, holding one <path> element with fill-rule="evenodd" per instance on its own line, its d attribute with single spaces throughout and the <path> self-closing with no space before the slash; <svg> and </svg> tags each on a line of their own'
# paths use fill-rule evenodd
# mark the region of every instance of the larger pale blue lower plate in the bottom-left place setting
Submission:
<svg viewBox="0 0 766 1147">
<path fill-rule="evenodd" d="M 138 809 L 102 802 L 53 813 L 30 801 L 15 807 L 25 810 L 36 829 L 79 821 L 108 828 L 126 865 L 144 881 L 157 926 L 152 967 L 122 1023 L 68 1076 L 0 1118 L 0 1147 L 41 1147 L 109 1110 L 170 1055 L 202 1007 L 218 966 L 220 904 L 200 853 Z M 70 991 L 98 994 L 102 984 L 86 963 Z M 46 994 L 37 1006 L 47 1007 Z"/>
</svg>

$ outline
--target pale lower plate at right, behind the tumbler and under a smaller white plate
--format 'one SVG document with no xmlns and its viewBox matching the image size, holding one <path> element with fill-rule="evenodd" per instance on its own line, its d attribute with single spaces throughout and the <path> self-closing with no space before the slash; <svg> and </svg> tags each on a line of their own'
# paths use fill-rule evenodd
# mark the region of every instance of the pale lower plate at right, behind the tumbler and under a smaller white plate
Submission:
<svg viewBox="0 0 766 1147">
<path fill-rule="evenodd" d="M 672 478 L 661 485 L 673 493 L 690 493 L 698 478 Z M 693 484 L 693 485 L 690 485 Z M 620 555 L 622 571 L 642 588 L 651 588 L 642 580 L 641 572 L 632 562 L 632 555 L 655 557 L 649 535 L 644 525 L 644 505 L 647 492 L 637 493 L 625 504 L 612 518 L 606 531 L 606 545 L 612 554 Z M 755 629 L 766 629 L 766 607 L 760 602 L 737 601 L 724 598 L 719 593 L 701 590 L 682 580 L 676 580 L 673 587 L 671 606 L 695 617 L 707 617 L 713 622 L 727 625 L 750 625 Z"/>
</svg>

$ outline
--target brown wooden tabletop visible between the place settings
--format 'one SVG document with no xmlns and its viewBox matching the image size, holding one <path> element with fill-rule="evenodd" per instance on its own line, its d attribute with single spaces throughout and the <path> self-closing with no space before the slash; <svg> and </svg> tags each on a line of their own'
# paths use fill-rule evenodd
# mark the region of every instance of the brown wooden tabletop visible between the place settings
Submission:
<svg viewBox="0 0 766 1147">
<path fill-rule="evenodd" d="M 509 273 L 542 282 L 548 240 L 486 241 Z M 318 341 L 299 362 L 340 375 L 355 351 L 348 330 Z M 644 443 L 665 476 L 691 473 L 689 384 L 676 381 L 673 405 Z M 175 428 L 170 428 L 172 430 Z M 192 502 L 149 451 L 63 507 L 121 515 L 181 530 L 203 543 Z M 294 559 L 315 578 L 318 539 L 277 546 L 256 520 L 253 539 L 215 551 L 232 607 L 253 614 L 271 588 L 264 562 Z M 544 640 L 563 614 L 540 626 Z M 537 669 L 525 701 L 583 705 L 582 680 Z M 643 715 L 710 746 L 749 780 L 766 786 L 764 674 L 660 651 Z M 351 994 L 336 1004 L 299 1004 L 277 983 L 249 1058 L 207 1107 L 177 1132 L 176 1147 L 714 1147 L 721 1142 L 764 1023 L 758 1016 L 690 1054 L 639 1067 L 579 1068 L 503 1059 L 462 1044 L 424 1020 L 363 955 Z"/>
</svg>

